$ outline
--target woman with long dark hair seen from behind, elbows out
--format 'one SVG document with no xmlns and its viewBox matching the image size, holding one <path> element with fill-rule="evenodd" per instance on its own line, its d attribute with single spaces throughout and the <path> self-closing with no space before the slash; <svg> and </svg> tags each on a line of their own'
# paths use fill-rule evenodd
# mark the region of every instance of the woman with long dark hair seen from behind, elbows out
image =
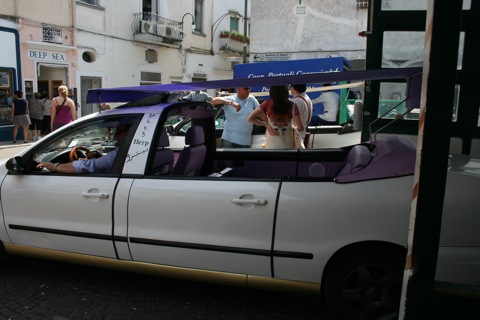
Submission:
<svg viewBox="0 0 480 320">
<path fill-rule="evenodd" d="M 248 121 L 267 129 L 265 143 L 268 149 L 294 148 L 293 128 L 303 131 L 300 111 L 288 98 L 287 86 L 271 86 L 270 99 L 255 109 Z"/>
</svg>

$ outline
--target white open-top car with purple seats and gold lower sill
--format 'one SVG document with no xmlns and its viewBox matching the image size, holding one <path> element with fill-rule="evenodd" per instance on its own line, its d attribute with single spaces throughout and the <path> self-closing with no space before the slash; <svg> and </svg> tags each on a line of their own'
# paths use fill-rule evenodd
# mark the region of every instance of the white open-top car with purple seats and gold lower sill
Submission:
<svg viewBox="0 0 480 320">
<path fill-rule="evenodd" d="M 322 293 L 342 319 L 398 315 L 414 141 L 217 149 L 210 104 L 165 101 L 82 117 L 0 164 L 3 252 Z M 187 117 L 185 147 L 171 148 L 166 127 Z M 37 169 L 110 152 L 101 172 Z M 450 160 L 437 279 L 480 284 L 480 162 Z"/>
</svg>

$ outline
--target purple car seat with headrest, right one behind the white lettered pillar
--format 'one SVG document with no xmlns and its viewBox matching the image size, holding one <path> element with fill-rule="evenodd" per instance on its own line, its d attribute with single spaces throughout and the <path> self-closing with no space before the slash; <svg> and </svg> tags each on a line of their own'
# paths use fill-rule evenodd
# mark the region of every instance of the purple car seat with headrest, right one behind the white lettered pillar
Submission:
<svg viewBox="0 0 480 320">
<path fill-rule="evenodd" d="M 200 174 L 207 154 L 204 142 L 205 134 L 201 126 L 192 126 L 187 130 L 185 135 L 187 146 L 183 148 L 173 167 L 174 175 L 196 176 Z"/>
</svg>

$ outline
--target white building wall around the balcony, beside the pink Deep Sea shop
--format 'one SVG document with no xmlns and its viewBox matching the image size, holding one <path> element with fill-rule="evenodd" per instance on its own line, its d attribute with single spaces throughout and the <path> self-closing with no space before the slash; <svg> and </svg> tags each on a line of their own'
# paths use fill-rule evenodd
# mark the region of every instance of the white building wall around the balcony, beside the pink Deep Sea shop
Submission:
<svg viewBox="0 0 480 320">
<path fill-rule="evenodd" d="M 170 6 L 179 12 L 169 15 L 169 8 L 162 6 L 158 14 L 180 21 L 180 12 L 190 0 L 170 1 Z M 182 59 L 180 46 L 148 44 L 133 41 L 134 14 L 142 11 L 140 0 L 103 0 L 101 7 L 92 7 L 77 2 L 77 83 L 83 100 L 86 89 L 81 88 L 81 79 L 99 78 L 100 87 L 136 86 L 140 84 L 140 72 L 162 74 L 162 83 L 171 79 L 182 80 Z M 191 23 L 191 22 L 190 22 Z M 190 24 L 189 24 L 190 25 Z M 191 31 L 190 31 L 191 33 Z M 148 63 L 145 58 L 147 49 L 155 50 L 158 61 Z M 83 53 L 92 54 L 94 61 L 86 62 Z M 85 83 L 85 82 L 83 82 Z M 85 103 L 85 101 L 83 101 Z M 95 111 L 95 108 L 90 108 Z"/>
</svg>

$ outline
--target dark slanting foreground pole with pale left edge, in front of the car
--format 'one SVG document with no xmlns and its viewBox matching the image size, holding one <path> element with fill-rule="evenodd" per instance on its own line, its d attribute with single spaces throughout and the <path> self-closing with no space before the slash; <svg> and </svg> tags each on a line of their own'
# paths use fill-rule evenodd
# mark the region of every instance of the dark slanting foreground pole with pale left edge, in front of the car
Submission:
<svg viewBox="0 0 480 320">
<path fill-rule="evenodd" d="M 417 163 L 400 306 L 406 320 L 430 318 L 448 167 L 461 18 L 462 1 L 428 1 L 424 49 L 424 56 L 428 59 L 423 62 Z M 445 23 L 447 20 L 448 24 Z M 441 95 L 438 94 L 440 91 Z M 427 109 L 431 110 L 427 112 Z"/>
</svg>

